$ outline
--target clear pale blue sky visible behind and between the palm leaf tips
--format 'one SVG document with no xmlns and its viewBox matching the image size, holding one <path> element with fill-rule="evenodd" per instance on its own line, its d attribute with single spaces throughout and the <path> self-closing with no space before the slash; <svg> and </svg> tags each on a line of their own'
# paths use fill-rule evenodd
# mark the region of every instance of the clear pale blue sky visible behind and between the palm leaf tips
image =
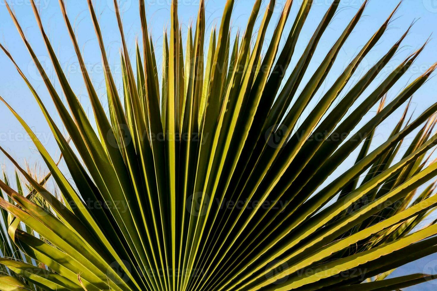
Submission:
<svg viewBox="0 0 437 291">
<path fill-rule="evenodd" d="M 111 61 L 112 72 L 117 80 L 117 84 L 121 84 L 121 69 L 120 69 L 120 56 L 119 50 L 120 34 L 116 24 L 113 0 L 94 0 L 94 6 L 97 10 L 97 14 L 100 15 L 100 24 L 103 31 L 103 38 L 107 47 L 108 55 Z M 340 9 L 332 23 L 329 25 L 325 34 L 323 35 L 316 54 L 314 55 L 312 64 L 310 65 L 307 74 L 305 75 L 302 84 L 308 81 L 312 72 L 317 68 L 317 65 L 323 60 L 326 52 L 330 49 L 336 38 L 343 32 L 344 27 L 353 17 L 354 13 L 361 6 L 364 0 L 342 0 Z M 87 112 L 92 114 L 90 102 L 87 96 L 85 87 L 83 86 L 82 76 L 80 74 L 79 65 L 77 63 L 76 56 L 74 54 L 73 46 L 69 39 L 68 33 L 65 28 L 64 20 L 60 14 L 58 0 L 37 0 L 40 6 L 40 13 L 43 24 L 45 26 L 46 33 L 49 35 L 52 45 L 57 50 L 57 55 L 64 71 L 68 74 L 69 80 L 73 86 L 74 91 L 81 100 Z M 80 46 L 83 48 L 83 56 L 87 64 L 87 68 L 93 78 L 93 82 L 99 90 L 99 96 L 101 96 L 102 103 L 107 108 L 107 101 L 104 90 L 104 77 L 101 67 L 101 57 L 97 40 L 94 34 L 94 28 L 90 21 L 90 14 L 87 8 L 86 0 L 65 0 L 69 18 L 75 22 L 75 29 Z M 125 34 L 127 42 L 131 48 L 131 57 L 134 55 L 135 40 L 140 36 L 139 15 L 138 15 L 138 1 L 137 0 L 120 0 L 121 10 L 123 11 L 123 23 L 125 27 Z M 155 41 L 155 50 L 157 62 L 162 62 L 161 50 L 162 50 L 162 34 L 166 27 L 169 27 L 170 22 L 170 2 L 171 0 L 146 0 L 147 15 L 149 21 L 149 29 L 151 30 L 153 39 Z M 253 0 L 236 0 L 235 9 L 232 17 L 232 33 L 235 34 L 239 27 L 244 30 L 246 26 L 246 20 L 253 6 Z M 285 29 L 285 34 L 291 26 L 291 21 L 297 13 L 302 0 L 295 0 L 291 9 L 291 14 L 288 21 L 288 26 Z M 42 42 L 41 34 L 38 30 L 38 26 L 35 22 L 29 0 L 10 0 L 10 5 L 14 8 L 22 27 L 28 37 L 29 42 L 33 46 L 36 55 L 40 61 L 43 62 L 45 68 L 52 79 L 55 80 L 56 89 L 60 92 L 59 83 L 55 79 L 54 72 L 52 70 L 51 63 L 48 58 L 45 45 Z M 209 31 L 215 25 L 220 24 L 220 17 L 225 0 L 206 0 L 206 19 L 207 19 L 207 31 Z M 277 9 L 272 18 L 270 25 L 270 33 L 274 29 L 276 20 L 279 17 L 281 7 L 285 3 L 285 0 L 277 1 Z M 295 65 L 300 53 L 303 51 L 309 38 L 311 38 L 314 29 L 319 24 L 319 21 L 323 17 L 332 0 L 314 0 L 312 10 L 309 14 L 308 20 L 303 28 L 302 34 L 299 38 L 298 45 L 295 50 L 295 57 L 292 58 L 291 68 Z M 187 26 L 195 21 L 197 15 L 199 0 L 180 0 L 179 4 L 179 19 L 183 29 L 184 37 L 187 34 Z M 267 4 L 263 3 L 263 7 Z M 351 58 L 355 56 L 358 49 L 364 45 L 378 27 L 385 21 L 394 7 L 398 4 L 398 0 L 371 0 L 364 12 L 364 17 L 357 24 L 354 32 L 350 35 L 349 39 L 340 51 L 340 54 L 334 64 L 328 78 L 325 82 L 326 86 L 322 86 L 316 95 L 315 102 L 322 96 L 323 92 L 329 88 L 330 84 L 335 78 L 342 72 L 343 68 L 350 62 Z M 264 12 L 263 12 L 264 13 Z M 409 55 L 412 51 L 419 48 L 427 38 L 436 30 L 437 27 L 437 0 L 405 0 L 403 1 L 399 11 L 395 14 L 397 17 L 390 24 L 389 29 L 378 45 L 366 56 L 362 65 L 357 70 L 355 76 L 351 79 L 351 84 L 356 82 L 359 76 L 365 72 L 366 68 L 373 65 L 382 55 L 384 55 L 388 48 L 390 48 L 404 33 L 409 24 L 418 19 L 413 26 L 411 33 L 403 42 L 404 47 L 399 51 L 399 54 L 393 58 L 388 65 L 374 82 L 370 89 L 374 89 L 379 82 L 382 81 L 384 75 L 391 72 L 402 60 Z M 259 21 L 258 21 L 259 23 Z M 284 40 L 285 37 L 283 37 Z M 267 40 L 269 36 L 267 36 Z M 35 65 L 31 62 L 31 58 L 28 51 L 24 47 L 21 38 L 19 37 L 13 22 L 10 19 L 7 9 L 4 5 L 4 0 L 0 0 L 0 42 L 5 45 L 15 58 L 17 64 L 21 67 L 23 72 L 27 75 L 28 79 L 32 82 L 33 86 L 37 89 L 38 93 L 45 102 L 50 113 L 54 119 L 60 124 L 60 119 L 53 106 L 52 100 L 47 93 L 41 77 L 38 75 Z M 208 44 L 206 44 L 208 45 Z M 396 84 L 396 86 L 388 93 L 388 100 L 395 98 L 400 89 L 402 89 L 409 79 L 416 78 L 427 68 L 429 68 L 434 62 L 437 62 L 436 55 L 437 40 L 431 39 L 429 45 L 417 59 L 416 63 L 410 68 L 402 79 Z M 366 90 L 363 96 L 367 96 L 366 93 L 370 92 Z M 437 78 L 430 79 L 415 95 L 413 98 L 412 108 L 414 109 L 413 117 L 418 116 L 428 106 L 436 102 L 436 89 Z M 45 122 L 42 113 L 40 112 L 35 99 L 29 92 L 27 86 L 22 81 L 21 77 L 16 72 L 15 68 L 7 57 L 0 53 L 0 96 L 6 99 L 14 109 L 21 114 L 21 116 L 32 126 L 32 129 L 38 135 L 43 144 L 45 144 L 48 151 L 53 157 L 59 156 L 59 150 L 56 146 L 55 140 L 50 133 L 49 127 Z M 342 96 L 340 96 L 341 98 Z M 314 104 L 310 104 L 305 113 L 311 110 Z M 395 123 L 399 120 L 399 116 L 403 111 L 403 107 L 397 110 L 392 116 L 390 116 L 380 127 L 375 137 L 375 143 L 372 148 L 375 148 L 383 140 L 385 140 Z M 375 110 L 370 110 L 364 117 L 363 122 L 374 116 Z M 408 140 L 411 137 L 407 137 Z M 21 164 L 27 162 L 30 166 L 37 165 L 38 171 L 44 174 L 47 170 L 42 164 L 42 160 L 35 150 L 34 145 L 29 140 L 28 136 L 24 134 L 24 130 L 14 119 L 14 116 L 9 110 L 0 104 L 0 145 L 6 148 L 10 154 L 15 157 Z M 338 173 L 346 170 L 345 164 L 354 161 L 355 157 L 352 155 L 345 163 L 339 168 Z M 3 168 L 7 168 L 9 174 L 13 173 L 13 168 L 6 160 L 5 157 L 0 156 L 0 164 Z M 64 167 L 65 168 L 65 167 Z M 337 174 L 338 174 L 337 173 Z M 333 175 L 332 180 L 335 178 Z M 327 181 L 327 182 L 329 182 Z M 394 272 L 394 275 L 400 274 L 412 274 L 418 272 L 425 273 L 437 273 L 437 255 L 433 255 L 422 260 L 408 264 L 405 267 L 400 268 Z M 434 282 L 433 282 L 434 283 Z M 408 290 L 435 290 L 437 285 L 433 283 L 425 283 L 418 287 L 409 288 Z M 437 283 L 436 283 L 437 284 Z"/>
</svg>

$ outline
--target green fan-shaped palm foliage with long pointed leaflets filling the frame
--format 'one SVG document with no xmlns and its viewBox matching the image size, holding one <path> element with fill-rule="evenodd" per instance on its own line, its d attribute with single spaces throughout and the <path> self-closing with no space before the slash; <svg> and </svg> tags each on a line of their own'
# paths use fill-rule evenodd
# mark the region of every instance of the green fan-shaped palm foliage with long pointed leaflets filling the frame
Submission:
<svg viewBox="0 0 437 291">
<path fill-rule="evenodd" d="M 437 206 L 436 182 L 419 188 L 437 175 L 432 161 L 437 103 L 413 118 L 408 102 L 437 64 L 410 80 L 392 101 L 385 99 L 427 43 L 379 78 L 410 26 L 375 65 L 351 82 L 398 5 L 367 42 L 357 44 L 361 49 L 332 85 L 319 90 L 367 1 L 314 72 L 309 69 L 312 57 L 340 1 L 333 1 L 298 56 L 296 43 L 313 1 L 299 1 L 295 19 L 289 20 L 292 1 L 287 0 L 270 39 L 267 27 L 276 21 L 275 1 L 267 3 L 259 27 L 261 1 L 253 2 L 242 37 L 234 38 L 234 0 L 226 1 L 221 24 L 211 34 L 205 31 L 201 0 L 184 47 L 173 1 L 159 78 L 144 0 L 139 0 L 142 34 L 136 64 L 114 0 L 122 44 L 119 92 L 93 2 L 87 0 L 104 68 L 105 110 L 64 0 L 59 0 L 94 126 L 62 70 L 35 1 L 31 5 L 63 99 L 5 1 L 62 127 L 13 56 L 1 48 L 44 113 L 71 179 L 0 97 L 49 168 L 39 180 L 0 147 L 17 168 L 17 190 L 6 175 L 0 180 L 7 195 L 0 198 L 0 290 L 395 290 L 435 278 L 389 277 L 397 267 L 437 251 L 437 225 L 424 223 Z M 292 23 L 290 31 L 285 29 L 287 21 Z M 298 59 L 294 66 L 292 57 Z M 310 76 L 306 84 L 304 75 Z M 324 92 L 315 102 L 319 91 Z M 375 116 L 364 122 L 377 103 Z M 404 106 L 389 137 L 372 147 L 378 125 Z M 355 150 L 356 161 L 328 182 Z M 55 192 L 46 187 L 49 179 L 55 181 Z"/>
</svg>

